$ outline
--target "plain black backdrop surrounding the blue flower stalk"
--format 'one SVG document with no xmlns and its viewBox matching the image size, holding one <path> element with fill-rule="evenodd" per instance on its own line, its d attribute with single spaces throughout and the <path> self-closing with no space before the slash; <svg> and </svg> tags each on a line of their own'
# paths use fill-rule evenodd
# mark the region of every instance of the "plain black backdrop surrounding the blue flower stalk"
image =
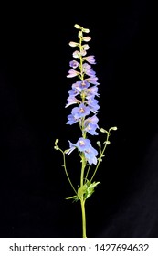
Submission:
<svg viewBox="0 0 158 256">
<path fill-rule="evenodd" d="M 102 3 L 102 2 L 101 2 Z M 1 6 L 0 236 L 80 237 L 68 148 L 74 24 L 90 29 L 100 127 L 117 126 L 87 201 L 88 237 L 158 237 L 157 27 L 152 1 Z M 79 169 L 68 156 L 76 187 Z"/>
</svg>

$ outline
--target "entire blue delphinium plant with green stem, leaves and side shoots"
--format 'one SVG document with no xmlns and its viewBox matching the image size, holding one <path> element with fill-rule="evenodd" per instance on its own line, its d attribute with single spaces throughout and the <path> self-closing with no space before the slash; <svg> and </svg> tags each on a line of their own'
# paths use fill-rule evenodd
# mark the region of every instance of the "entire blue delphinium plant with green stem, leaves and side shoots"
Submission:
<svg viewBox="0 0 158 256">
<path fill-rule="evenodd" d="M 72 199 L 73 201 L 80 200 L 82 210 L 82 237 L 86 238 L 85 201 L 93 194 L 94 187 L 100 184 L 100 182 L 92 182 L 92 180 L 102 162 L 102 158 L 105 156 L 104 152 L 107 145 L 111 143 L 109 140 L 110 132 L 111 130 L 117 130 L 117 127 L 113 126 L 109 131 L 99 127 L 97 114 L 100 105 L 96 97 L 100 97 L 98 93 L 98 85 L 100 83 L 98 82 L 95 70 L 92 68 L 92 65 L 96 64 L 96 59 L 94 55 L 87 55 L 87 51 L 90 47 L 85 42 L 89 42 L 91 37 L 83 36 L 84 33 L 89 33 L 90 30 L 78 24 L 75 24 L 74 27 L 79 29 L 79 42 L 69 42 L 70 47 L 78 47 L 78 49 L 72 53 L 73 59 L 69 61 L 70 68 L 67 78 L 77 78 L 77 81 L 73 82 L 71 89 L 68 90 L 68 99 L 65 107 L 72 107 L 74 104 L 75 107 L 73 107 L 68 114 L 66 124 L 73 125 L 78 123 L 81 135 L 77 143 L 71 143 L 68 140 L 69 148 L 65 151 L 58 147 L 58 139 L 55 141 L 54 148 L 63 154 L 63 167 L 68 177 L 68 182 L 75 192 L 75 196 L 67 197 L 67 199 Z M 97 141 L 98 150 L 96 150 L 92 146 L 89 136 L 99 135 L 98 130 L 106 135 L 106 140 L 102 144 L 100 141 Z M 70 155 L 75 149 L 78 150 L 80 158 L 79 165 L 81 165 L 80 185 L 78 189 L 75 189 L 72 185 L 66 166 L 66 155 Z M 90 171 L 92 167 L 94 167 L 93 172 Z"/>
</svg>

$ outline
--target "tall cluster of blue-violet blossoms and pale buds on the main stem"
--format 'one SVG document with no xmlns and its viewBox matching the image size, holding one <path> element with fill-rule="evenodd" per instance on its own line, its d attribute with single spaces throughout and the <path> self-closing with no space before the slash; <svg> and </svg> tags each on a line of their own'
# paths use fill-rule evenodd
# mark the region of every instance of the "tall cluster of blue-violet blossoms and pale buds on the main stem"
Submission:
<svg viewBox="0 0 158 256">
<path fill-rule="evenodd" d="M 69 46 L 72 48 L 78 48 L 72 54 L 73 60 L 69 62 L 70 69 L 68 70 L 68 78 L 78 77 L 75 83 L 72 84 L 71 90 L 68 91 L 68 99 L 66 108 L 70 105 L 77 105 L 68 114 L 67 124 L 79 123 L 82 137 L 79 138 L 76 144 L 69 142 L 70 154 L 75 148 L 78 148 L 80 153 L 83 153 L 88 163 L 97 164 L 98 151 L 92 147 L 90 140 L 87 139 L 87 133 L 91 135 L 98 135 L 97 129 L 98 117 L 100 106 L 96 97 L 99 97 L 98 93 L 98 78 L 96 72 L 91 65 L 96 64 L 94 55 L 87 56 L 87 51 L 90 48 L 87 42 L 90 41 L 90 37 L 84 37 L 85 33 L 89 33 L 87 28 L 75 25 L 79 29 L 78 42 L 70 42 Z"/>
</svg>

